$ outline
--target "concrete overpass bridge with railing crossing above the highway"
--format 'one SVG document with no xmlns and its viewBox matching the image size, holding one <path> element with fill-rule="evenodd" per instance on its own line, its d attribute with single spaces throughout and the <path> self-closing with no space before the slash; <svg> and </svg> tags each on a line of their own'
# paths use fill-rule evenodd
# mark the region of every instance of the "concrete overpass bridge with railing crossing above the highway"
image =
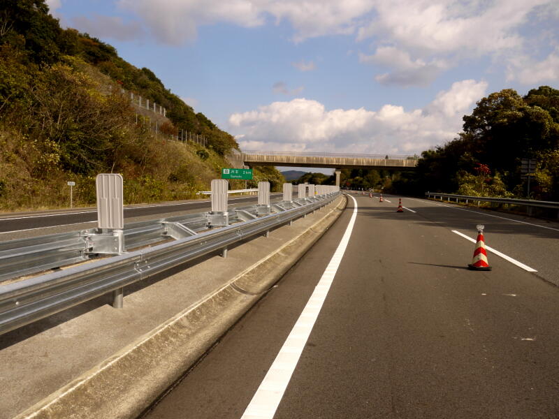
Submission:
<svg viewBox="0 0 559 419">
<path fill-rule="evenodd" d="M 240 153 L 245 166 L 289 166 L 302 168 L 333 168 L 336 185 L 340 186 L 340 170 L 363 168 L 377 170 L 414 170 L 418 156 L 402 154 L 337 154 L 303 152 L 258 152 L 247 150 Z"/>
</svg>

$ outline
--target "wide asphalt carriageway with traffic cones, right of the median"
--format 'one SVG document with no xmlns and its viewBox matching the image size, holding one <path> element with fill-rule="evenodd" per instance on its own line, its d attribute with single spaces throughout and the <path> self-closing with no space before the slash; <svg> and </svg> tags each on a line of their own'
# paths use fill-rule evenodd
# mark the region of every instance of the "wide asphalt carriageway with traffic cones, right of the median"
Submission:
<svg viewBox="0 0 559 419">
<path fill-rule="evenodd" d="M 558 223 L 386 198 L 349 198 L 144 418 L 558 418 Z"/>
</svg>

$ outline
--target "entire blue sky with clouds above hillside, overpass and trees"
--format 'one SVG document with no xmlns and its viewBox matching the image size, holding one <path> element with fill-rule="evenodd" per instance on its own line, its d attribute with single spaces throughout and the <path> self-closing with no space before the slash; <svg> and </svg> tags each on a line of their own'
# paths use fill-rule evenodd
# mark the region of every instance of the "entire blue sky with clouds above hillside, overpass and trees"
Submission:
<svg viewBox="0 0 559 419">
<path fill-rule="evenodd" d="M 493 91 L 559 87 L 559 1 L 48 0 L 242 149 L 419 154 Z"/>
</svg>

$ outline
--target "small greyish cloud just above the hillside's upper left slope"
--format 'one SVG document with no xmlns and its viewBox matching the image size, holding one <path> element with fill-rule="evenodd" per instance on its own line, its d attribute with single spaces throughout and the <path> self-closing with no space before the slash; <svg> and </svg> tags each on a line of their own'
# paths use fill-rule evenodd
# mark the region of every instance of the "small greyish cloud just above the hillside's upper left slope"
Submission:
<svg viewBox="0 0 559 419">
<path fill-rule="evenodd" d="M 98 38 L 113 38 L 118 41 L 133 41 L 145 36 L 139 22 L 124 22 L 120 17 L 94 15 L 78 16 L 72 19 L 74 27 Z"/>
</svg>

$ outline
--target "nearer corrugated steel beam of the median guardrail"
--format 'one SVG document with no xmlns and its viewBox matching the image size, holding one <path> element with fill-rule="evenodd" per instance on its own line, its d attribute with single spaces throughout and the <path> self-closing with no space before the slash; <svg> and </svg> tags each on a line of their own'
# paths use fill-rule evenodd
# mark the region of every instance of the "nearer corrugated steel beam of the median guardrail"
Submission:
<svg viewBox="0 0 559 419">
<path fill-rule="evenodd" d="M 85 265 L 68 267 L 66 270 L 39 277 L 0 285 L 0 333 L 106 293 L 115 292 L 122 299 L 119 290 L 124 286 L 212 251 L 226 249 L 228 245 L 245 240 L 247 237 L 266 233 L 272 228 L 317 210 L 330 203 L 337 195 L 339 191 L 331 189 L 331 192 L 324 196 L 304 198 L 291 209 L 284 210 L 279 205 L 275 205 L 277 211 L 275 214 L 207 230 L 173 242 L 96 260 Z M 247 211 L 238 210 L 238 212 Z M 242 219 L 240 216 L 236 218 Z M 164 228 L 168 228 L 167 232 L 172 230 L 169 229 L 169 223 L 161 224 Z M 182 227 L 184 226 L 181 225 L 179 228 Z M 181 234 L 189 233 L 190 229 L 187 229 L 181 230 Z"/>
</svg>

